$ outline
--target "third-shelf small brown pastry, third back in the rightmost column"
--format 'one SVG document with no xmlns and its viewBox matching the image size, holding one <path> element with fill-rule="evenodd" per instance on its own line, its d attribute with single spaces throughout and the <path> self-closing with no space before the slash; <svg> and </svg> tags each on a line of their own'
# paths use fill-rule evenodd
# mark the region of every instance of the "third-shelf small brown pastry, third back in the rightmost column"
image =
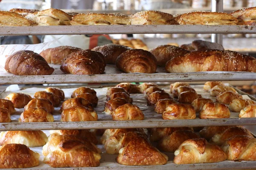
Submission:
<svg viewBox="0 0 256 170">
<path fill-rule="evenodd" d="M 225 105 L 228 105 L 234 99 L 242 99 L 242 98 L 243 97 L 238 93 L 235 93 L 233 91 L 225 91 L 216 96 L 216 102 L 220 102 Z"/>
</svg>

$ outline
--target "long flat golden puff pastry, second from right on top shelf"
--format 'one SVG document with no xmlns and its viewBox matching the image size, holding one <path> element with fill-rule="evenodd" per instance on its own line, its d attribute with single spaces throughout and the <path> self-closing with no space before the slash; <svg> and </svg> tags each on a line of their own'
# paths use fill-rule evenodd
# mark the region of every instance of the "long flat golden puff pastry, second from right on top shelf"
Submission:
<svg viewBox="0 0 256 170">
<path fill-rule="evenodd" d="M 238 20 L 223 12 L 195 11 L 182 14 L 178 20 L 180 25 L 236 25 Z"/>
</svg>

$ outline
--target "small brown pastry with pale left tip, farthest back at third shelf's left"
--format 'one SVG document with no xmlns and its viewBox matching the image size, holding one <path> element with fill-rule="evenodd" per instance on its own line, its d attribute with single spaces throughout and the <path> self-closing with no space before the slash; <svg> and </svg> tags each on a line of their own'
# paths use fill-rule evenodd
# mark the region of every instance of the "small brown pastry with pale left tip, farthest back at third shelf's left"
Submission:
<svg viewBox="0 0 256 170">
<path fill-rule="evenodd" d="M 32 100 L 32 97 L 23 93 L 11 93 L 5 99 L 11 100 L 15 108 L 24 108 Z"/>
</svg>

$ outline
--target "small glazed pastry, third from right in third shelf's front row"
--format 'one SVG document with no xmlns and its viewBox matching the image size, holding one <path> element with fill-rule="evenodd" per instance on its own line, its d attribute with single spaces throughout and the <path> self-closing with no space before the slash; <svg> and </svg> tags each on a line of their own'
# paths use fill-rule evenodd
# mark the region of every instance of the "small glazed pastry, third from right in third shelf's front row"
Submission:
<svg viewBox="0 0 256 170">
<path fill-rule="evenodd" d="M 163 111 L 164 120 L 195 119 L 195 109 L 192 105 L 174 103 Z"/>
</svg>

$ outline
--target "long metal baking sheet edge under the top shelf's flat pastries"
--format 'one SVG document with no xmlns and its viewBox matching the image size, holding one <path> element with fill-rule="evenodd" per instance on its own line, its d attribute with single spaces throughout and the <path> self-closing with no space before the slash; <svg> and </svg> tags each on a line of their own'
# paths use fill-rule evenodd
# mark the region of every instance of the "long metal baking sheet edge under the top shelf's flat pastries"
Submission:
<svg viewBox="0 0 256 170">
<path fill-rule="evenodd" d="M 0 35 L 64 34 L 256 34 L 256 26 L 111 25 L 0 27 Z"/>
</svg>

